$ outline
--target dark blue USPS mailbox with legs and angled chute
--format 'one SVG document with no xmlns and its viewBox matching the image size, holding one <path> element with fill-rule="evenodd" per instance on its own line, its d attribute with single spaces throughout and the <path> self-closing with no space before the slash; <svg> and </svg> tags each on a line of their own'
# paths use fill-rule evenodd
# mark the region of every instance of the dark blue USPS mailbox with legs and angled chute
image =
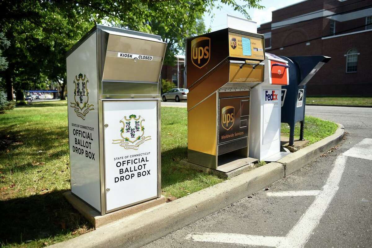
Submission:
<svg viewBox="0 0 372 248">
<path fill-rule="evenodd" d="M 306 84 L 331 58 L 327 56 L 279 56 L 288 61 L 289 85 L 282 86 L 282 123 L 288 123 L 289 145 L 293 146 L 295 124 L 299 121 L 300 140 L 304 140 Z"/>
</svg>

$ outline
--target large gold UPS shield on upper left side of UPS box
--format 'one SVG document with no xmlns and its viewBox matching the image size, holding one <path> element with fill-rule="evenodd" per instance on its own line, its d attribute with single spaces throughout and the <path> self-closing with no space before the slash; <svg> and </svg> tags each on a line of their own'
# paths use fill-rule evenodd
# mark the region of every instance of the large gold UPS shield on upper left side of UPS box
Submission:
<svg viewBox="0 0 372 248">
<path fill-rule="evenodd" d="M 206 66 L 211 57 L 211 39 L 199 37 L 191 41 L 191 61 L 199 69 Z"/>
</svg>

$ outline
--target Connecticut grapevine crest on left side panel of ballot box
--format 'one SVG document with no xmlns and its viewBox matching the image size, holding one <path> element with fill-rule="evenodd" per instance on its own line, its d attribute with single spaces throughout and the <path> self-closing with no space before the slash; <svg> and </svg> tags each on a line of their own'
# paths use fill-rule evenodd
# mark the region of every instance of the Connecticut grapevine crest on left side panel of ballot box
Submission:
<svg viewBox="0 0 372 248">
<path fill-rule="evenodd" d="M 90 110 L 94 109 L 93 104 L 89 104 L 89 90 L 88 90 L 89 79 L 82 73 L 78 74 L 74 78 L 74 100 L 71 102 L 72 107 L 78 117 L 85 120 L 85 116 Z"/>
</svg>

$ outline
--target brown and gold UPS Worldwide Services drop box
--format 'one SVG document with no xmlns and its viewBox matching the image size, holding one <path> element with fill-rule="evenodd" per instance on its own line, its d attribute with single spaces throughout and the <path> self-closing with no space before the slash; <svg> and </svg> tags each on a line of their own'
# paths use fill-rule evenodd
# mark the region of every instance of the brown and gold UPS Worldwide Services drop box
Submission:
<svg viewBox="0 0 372 248">
<path fill-rule="evenodd" d="M 222 172 L 248 158 L 250 89 L 263 82 L 264 36 L 231 28 L 188 38 L 188 160 Z"/>
</svg>

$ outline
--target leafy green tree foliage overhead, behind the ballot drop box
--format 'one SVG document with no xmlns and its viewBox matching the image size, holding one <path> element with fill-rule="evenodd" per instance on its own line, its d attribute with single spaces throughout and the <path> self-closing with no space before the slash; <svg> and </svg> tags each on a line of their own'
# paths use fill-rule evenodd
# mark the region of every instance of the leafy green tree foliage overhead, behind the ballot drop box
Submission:
<svg viewBox="0 0 372 248">
<path fill-rule="evenodd" d="M 205 32 L 203 13 L 225 3 L 248 17 L 260 0 L 22 0 L 0 1 L 0 32 L 10 41 L 3 73 L 10 88 L 43 88 L 58 82 L 63 97 L 65 53 L 96 23 L 161 35 L 168 43 L 164 63 L 173 64 L 185 38 Z"/>
</svg>

